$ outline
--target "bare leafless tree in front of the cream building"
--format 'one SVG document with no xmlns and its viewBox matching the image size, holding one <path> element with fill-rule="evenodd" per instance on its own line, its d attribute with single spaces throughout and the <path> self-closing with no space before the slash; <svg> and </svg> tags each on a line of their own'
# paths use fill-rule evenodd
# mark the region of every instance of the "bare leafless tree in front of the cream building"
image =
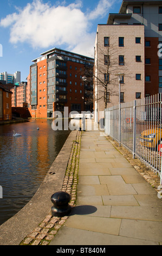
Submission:
<svg viewBox="0 0 162 256">
<path fill-rule="evenodd" d="M 119 56 L 115 45 L 109 46 L 109 43 L 104 48 L 98 47 L 98 58 L 95 60 L 94 70 L 94 87 L 97 84 L 99 89 L 98 99 L 103 100 L 105 108 L 107 103 L 111 102 L 111 96 L 119 96 L 118 80 L 114 76 L 115 73 L 123 72 L 124 56 Z M 124 82 L 124 77 L 122 77 Z M 122 81 L 121 81 L 122 82 Z"/>
</svg>

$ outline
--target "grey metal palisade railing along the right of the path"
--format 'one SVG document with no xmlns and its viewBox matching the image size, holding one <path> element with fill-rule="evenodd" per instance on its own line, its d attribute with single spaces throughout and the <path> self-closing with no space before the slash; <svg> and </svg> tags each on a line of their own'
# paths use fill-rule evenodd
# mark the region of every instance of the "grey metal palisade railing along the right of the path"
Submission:
<svg viewBox="0 0 162 256">
<path fill-rule="evenodd" d="M 162 94 L 105 109 L 105 133 L 160 176 L 162 185 Z"/>
</svg>

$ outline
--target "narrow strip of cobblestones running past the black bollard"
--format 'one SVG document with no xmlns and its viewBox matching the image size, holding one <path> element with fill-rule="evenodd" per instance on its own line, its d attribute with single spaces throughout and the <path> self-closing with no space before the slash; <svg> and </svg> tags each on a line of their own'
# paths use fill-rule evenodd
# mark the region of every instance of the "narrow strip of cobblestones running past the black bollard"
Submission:
<svg viewBox="0 0 162 256">
<path fill-rule="evenodd" d="M 70 206 L 75 206 L 76 191 L 77 191 L 77 176 L 79 169 L 79 155 L 80 155 L 81 131 L 77 131 L 76 141 L 73 142 L 72 151 L 70 153 L 64 181 L 62 184 L 62 191 L 67 192 L 71 196 Z M 44 218 L 44 220 L 29 234 L 20 245 L 49 245 L 50 241 L 54 239 L 57 231 L 66 222 L 68 216 L 54 217 L 51 212 Z"/>
</svg>

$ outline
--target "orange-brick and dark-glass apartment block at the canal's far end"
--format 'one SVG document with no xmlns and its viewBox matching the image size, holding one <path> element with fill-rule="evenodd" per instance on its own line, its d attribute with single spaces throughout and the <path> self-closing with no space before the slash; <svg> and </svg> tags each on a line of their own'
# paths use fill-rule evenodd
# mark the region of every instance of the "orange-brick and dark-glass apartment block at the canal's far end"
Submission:
<svg viewBox="0 0 162 256">
<path fill-rule="evenodd" d="M 68 113 L 81 112 L 84 103 L 85 110 L 92 111 L 93 100 L 85 101 L 84 86 L 89 88 L 87 97 L 93 97 L 93 84 L 84 84 L 82 76 L 89 67 L 93 69 L 93 58 L 53 48 L 33 62 L 28 77 L 31 117 L 51 118 L 54 111 L 63 113 L 64 107 L 68 107 Z"/>
</svg>

